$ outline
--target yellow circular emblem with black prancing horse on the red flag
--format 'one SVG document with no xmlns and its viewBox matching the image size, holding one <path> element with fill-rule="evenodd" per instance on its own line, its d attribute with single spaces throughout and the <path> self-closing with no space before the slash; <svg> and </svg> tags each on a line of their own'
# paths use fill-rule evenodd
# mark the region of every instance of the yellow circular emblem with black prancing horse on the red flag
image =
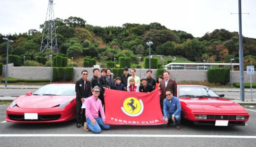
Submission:
<svg viewBox="0 0 256 147">
<path fill-rule="evenodd" d="M 144 105 L 141 99 L 129 97 L 124 100 L 121 109 L 126 115 L 136 117 L 142 113 Z"/>
</svg>

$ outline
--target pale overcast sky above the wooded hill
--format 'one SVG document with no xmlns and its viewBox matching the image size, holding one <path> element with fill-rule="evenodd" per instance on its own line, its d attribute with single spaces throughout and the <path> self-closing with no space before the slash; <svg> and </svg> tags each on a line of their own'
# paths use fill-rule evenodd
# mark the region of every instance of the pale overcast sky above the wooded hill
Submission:
<svg viewBox="0 0 256 147">
<path fill-rule="evenodd" d="M 47 7 L 48 0 L 0 0 L 0 33 L 41 31 Z M 55 18 L 76 16 L 102 27 L 157 22 L 194 37 L 221 28 L 238 32 L 238 14 L 231 13 L 238 13 L 238 0 L 54 0 Z M 242 13 L 243 36 L 256 38 L 256 0 L 242 0 Z"/>
</svg>

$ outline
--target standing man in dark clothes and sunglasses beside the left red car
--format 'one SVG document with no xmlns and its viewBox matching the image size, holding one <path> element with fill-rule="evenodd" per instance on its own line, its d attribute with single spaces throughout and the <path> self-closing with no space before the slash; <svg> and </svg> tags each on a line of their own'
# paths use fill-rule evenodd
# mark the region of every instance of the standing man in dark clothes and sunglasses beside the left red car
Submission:
<svg viewBox="0 0 256 147">
<path fill-rule="evenodd" d="M 82 103 L 86 100 L 86 98 L 92 95 L 91 92 L 91 82 L 87 79 L 88 72 L 81 72 L 81 79 L 76 81 L 75 83 L 75 92 L 76 92 L 76 127 L 81 127 L 81 124 L 86 122 L 85 119 L 85 109 L 82 112 L 82 121 L 81 121 L 81 107 Z"/>
</svg>

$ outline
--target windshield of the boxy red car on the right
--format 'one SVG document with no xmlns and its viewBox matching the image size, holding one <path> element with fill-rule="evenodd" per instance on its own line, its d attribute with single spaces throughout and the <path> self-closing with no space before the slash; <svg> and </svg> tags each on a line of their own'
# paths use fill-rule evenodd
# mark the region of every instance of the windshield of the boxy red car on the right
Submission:
<svg viewBox="0 0 256 147">
<path fill-rule="evenodd" d="M 181 86 L 179 98 L 219 98 L 209 87 Z"/>
</svg>

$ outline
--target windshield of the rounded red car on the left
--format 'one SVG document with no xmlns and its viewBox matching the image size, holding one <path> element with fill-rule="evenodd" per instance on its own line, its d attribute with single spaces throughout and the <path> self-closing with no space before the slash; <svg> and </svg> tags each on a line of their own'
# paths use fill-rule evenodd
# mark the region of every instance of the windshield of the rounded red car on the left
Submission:
<svg viewBox="0 0 256 147">
<path fill-rule="evenodd" d="M 74 96 L 75 84 L 49 84 L 38 89 L 33 95 Z"/>
</svg>

